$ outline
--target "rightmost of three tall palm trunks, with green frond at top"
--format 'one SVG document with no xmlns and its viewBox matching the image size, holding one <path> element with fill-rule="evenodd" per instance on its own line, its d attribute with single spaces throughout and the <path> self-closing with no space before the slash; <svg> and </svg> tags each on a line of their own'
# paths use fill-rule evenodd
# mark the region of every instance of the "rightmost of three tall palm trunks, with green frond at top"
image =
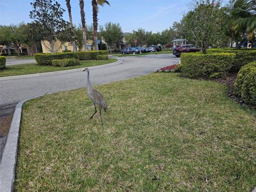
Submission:
<svg viewBox="0 0 256 192">
<path fill-rule="evenodd" d="M 92 19 L 93 19 L 93 39 L 95 50 L 98 51 L 98 4 L 103 6 L 104 4 L 109 4 L 107 0 L 92 0 Z"/>
</svg>

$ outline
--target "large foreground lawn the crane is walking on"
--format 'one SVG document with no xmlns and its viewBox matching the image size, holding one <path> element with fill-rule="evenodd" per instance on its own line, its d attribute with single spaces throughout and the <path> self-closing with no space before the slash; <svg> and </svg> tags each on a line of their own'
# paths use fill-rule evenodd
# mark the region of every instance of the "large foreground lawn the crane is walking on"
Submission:
<svg viewBox="0 0 256 192">
<path fill-rule="evenodd" d="M 103 77 L 102 77 L 103 78 Z M 17 191 L 252 191 L 255 111 L 211 81 L 155 73 L 99 85 L 109 110 L 93 119 L 86 89 L 22 110 Z"/>
</svg>

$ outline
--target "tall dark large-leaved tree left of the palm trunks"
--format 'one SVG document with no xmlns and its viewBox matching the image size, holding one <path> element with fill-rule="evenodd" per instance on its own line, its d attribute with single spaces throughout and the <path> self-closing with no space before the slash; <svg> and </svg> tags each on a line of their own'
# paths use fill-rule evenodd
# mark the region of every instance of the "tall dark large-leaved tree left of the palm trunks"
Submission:
<svg viewBox="0 0 256 192">
<path fill-rule="evenodd" d="M 35 0 L 31 5 L 34 10 L 30 11 L 29 16 L 41 29 L 37 32 L 42 37 L 42 43 L 51 53 L 57 52 L 64 42 L 71 40 L 72 36 L 68 22 L 62 19 L 65 10 L 54 0 Z M 61 44 L 57 50 L 53 50 L 58 39 Z"/>
</svg>

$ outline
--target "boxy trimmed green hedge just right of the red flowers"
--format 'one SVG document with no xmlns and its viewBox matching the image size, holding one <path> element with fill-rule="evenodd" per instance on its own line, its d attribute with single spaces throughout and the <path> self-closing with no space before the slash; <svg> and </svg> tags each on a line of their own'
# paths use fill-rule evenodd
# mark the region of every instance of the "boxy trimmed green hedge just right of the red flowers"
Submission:
<svg viewBox="0 0 256 192">
<path fill-rule="evenodd" d="M 225 76 L 234 58 L 234 53 L 182 53 L 182 72 L 190 78 Z"/>
</svg>

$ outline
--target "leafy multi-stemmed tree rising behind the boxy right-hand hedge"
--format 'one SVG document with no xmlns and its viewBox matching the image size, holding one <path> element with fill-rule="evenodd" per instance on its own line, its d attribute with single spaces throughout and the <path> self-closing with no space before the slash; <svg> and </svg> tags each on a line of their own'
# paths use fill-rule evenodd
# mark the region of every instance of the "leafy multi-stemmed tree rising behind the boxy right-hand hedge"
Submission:
<svg viewBox="0 0 256 192">
<path fill-rule="evenodd" d="M 221 9 L 219 0 L 197 0 L 195 9 L 182 18 L 182 25 L 187 32 L 186 38 L 206 53 L 209 46 L 218 46 L 222 44 L 222 38 L 226 38 L 223 35 L 228 28 L 223 25 L 226 20 L 225 10 Z"/>
</svg>

